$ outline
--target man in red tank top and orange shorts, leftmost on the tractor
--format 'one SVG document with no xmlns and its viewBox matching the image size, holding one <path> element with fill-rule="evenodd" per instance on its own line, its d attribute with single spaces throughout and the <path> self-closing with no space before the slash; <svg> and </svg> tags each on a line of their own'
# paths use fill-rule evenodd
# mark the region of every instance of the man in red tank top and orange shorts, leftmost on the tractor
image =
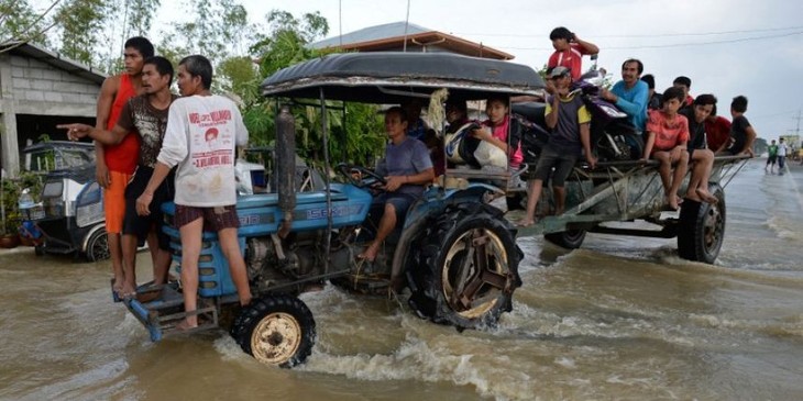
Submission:
<svg viewBox="0 0 803 401">
<path fill-rule="evenodd" d="M 142 90 L 142 66 L 145 58 L 153 57 L 153 44 L 135 36 L 125 41 L 123 64 L 125 70 L 107 78 L 100 87 L 95 127 L 111 130 L 122 112 L 123 105 Z M 123 274 L 121 233 L 125 215 L 125 186 L 136 168 L 140 141 L 128 135 L 118 145 L 95 143 L 97 152 L 96 179 L 103 188 L 106 232 L 109 238 L 111 266 L 114 271 L 113 290 L 118 296 L 135 293 L 136 283 Z M 154 244 L 155 246 L 155 244 Z"/>
</svg>

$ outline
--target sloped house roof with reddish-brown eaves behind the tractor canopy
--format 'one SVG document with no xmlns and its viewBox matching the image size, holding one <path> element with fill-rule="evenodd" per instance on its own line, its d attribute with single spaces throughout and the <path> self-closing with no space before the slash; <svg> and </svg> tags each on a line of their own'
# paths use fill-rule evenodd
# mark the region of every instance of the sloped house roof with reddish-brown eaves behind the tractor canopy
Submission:
<svg viewBox="0 0 803 401">
<path fill-rule="evenodd" d="M 487 47 L 482 43 L 438 32 L 416 24 L 393 22 L 365 27 L 342 36 L 326 38 L 310 44 L 312 48 L 337 48 L 346 52 L 448 52 L 465 56 L 508 60 L 514 55 Z"/>
</svg>

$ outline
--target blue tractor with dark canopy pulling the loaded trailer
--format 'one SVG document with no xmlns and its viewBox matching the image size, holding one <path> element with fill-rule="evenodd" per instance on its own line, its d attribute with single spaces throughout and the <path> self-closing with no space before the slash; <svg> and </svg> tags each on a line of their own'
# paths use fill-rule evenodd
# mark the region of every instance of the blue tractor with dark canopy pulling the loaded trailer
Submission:
<svg viewBox="0 0 803 401">
<path fill-rule="evenodd" d="M 340 54 L 285 68 L 262 85 L 277 103 L 315 99 L 328 104 L 361 101 L 393 104 L 432 97 L 447 89 L 463 99 L 488 94 L 535 94 L 543 87 L 529 67 L 451 54 Z M 306 103 L 308 104 L 308 103 Z M 437 105 L 437 104 L 436 104 Z M 228 327 L 242 349 L 257 360 L 292 367 L 310 355 L 316 337 L 312 313 L 298 294 L 326 282 L 363 294 L 395 294 L 419 316 L 459 330 L 497 324 L 512 310 L 521 283 L 522 253 L 516 230 L 491 199 L 509 172 L 448 170 L 407 212 L 373 263 L 356 256 L 373 240 L 381 205 L 370 187 L 383 180 L 370 168 L 332 163 L 324 170 L 306 167 L 296 156 L 292 108 L 277 108 L 275 148 L 264 166 L 241 164 L 240 246 L 254 300 L 238 305 L 238 296 L 215 233 L 204 234 L 199 260 L 199 328 Z M 326 119 L 321 130 L 328 135 Z M 324 146 L 326 148 L 326 146 Z M 174 260 L 180 240 L 173 224 L 175 205 L 163 205 Z M 377 213 L 378 212 L 378 213 Z M 180 264 L 178 266 L 180 269 Z M 175 331 L 186 316 L 177 285 L 143 286 L 125 301 L 148 328 L 153 341 Z"/>
</svg>

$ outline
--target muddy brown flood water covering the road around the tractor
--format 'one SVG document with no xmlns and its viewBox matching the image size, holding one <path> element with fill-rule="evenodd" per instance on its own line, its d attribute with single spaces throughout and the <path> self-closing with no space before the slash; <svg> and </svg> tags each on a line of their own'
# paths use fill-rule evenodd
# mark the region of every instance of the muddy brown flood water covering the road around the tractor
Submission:
<svg viewBox="0 0 803 401">
<path fill-rule="evenodd" d="M 308 363 L 266 367 L 224 332 L 150 342 L 111 302 L 110 264 L 0 249 L 0 399 L 801 400 L 803 168 L 746 165 L 716 265 L 674 240 L 521 238 L 524 286 L 494 331 L 427 323 L 332 288 L 302 299 Z M 141 253 L 141 281 L 150 271 Z"/>
</svg>

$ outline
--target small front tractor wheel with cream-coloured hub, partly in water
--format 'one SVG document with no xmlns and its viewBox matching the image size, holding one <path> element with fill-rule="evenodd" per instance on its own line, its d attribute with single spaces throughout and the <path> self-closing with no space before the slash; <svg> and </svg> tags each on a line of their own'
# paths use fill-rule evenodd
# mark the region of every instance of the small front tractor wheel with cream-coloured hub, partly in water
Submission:
<svg viewBox="0 0 803 401">
<path fill-rule="evenodd" d="M 298 298 L 268 296 L 243 308 L 231 327 L 240 347 L 260 363 L 292 368 L 312 353 L 312 312 Z"/>
</svg>

